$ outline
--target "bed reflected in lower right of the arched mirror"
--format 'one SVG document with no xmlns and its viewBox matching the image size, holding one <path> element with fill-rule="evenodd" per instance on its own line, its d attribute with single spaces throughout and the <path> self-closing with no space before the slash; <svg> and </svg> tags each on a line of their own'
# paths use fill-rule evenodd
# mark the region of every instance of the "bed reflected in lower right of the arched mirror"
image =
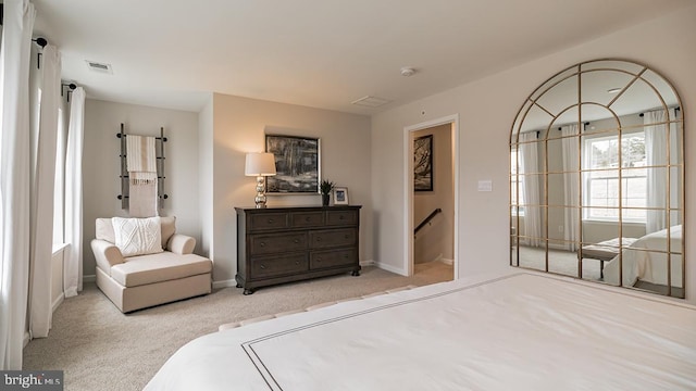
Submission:
<svg viewBox="0 0 696 391">
<path fill-rule="evenodd" d="M 672 287 L 682 287 L 682 226 L 669 229 Z M 668 230 L 648 234 L 623 250 L 623 286 L 633 287 L 638 280 L 667 287 Z M 619 255 L 604 268 L 605 282 L 619 285 Z"/>
</svg>

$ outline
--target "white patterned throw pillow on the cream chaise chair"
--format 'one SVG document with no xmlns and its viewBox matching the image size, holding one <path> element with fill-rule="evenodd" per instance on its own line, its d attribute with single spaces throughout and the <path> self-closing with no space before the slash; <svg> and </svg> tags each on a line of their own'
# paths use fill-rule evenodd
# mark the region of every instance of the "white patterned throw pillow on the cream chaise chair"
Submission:
<svg viewBox="0 0 696 391">
<path fill-rule="evenodd" d="M 162 252 L 160 217 L 123 218 L 112 217 L 116 247 L 123 256 L 145 255 Z"/>
</svg>

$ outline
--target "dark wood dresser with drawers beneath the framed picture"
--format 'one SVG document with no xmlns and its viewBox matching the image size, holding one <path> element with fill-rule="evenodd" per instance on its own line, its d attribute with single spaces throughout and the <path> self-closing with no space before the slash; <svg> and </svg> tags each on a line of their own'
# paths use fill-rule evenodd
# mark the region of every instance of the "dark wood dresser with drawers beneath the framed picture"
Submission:
<svg viewBox="0 0 696 391">
<path fill-rule="evenodd" d="M 235 207 L 237 288 L 351 272 L 360 275 L 359 205 Z"/>
</svg>

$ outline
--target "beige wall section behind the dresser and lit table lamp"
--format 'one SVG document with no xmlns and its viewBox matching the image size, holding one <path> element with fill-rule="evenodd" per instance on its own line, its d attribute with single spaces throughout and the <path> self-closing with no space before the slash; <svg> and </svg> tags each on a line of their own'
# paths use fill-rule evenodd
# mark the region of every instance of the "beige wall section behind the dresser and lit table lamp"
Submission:
<svg viewBox="0 0 696 391">
<path fill-rule="evenodd" d="M 264 150 L 264 133 L 321 139 L 322 177 L 348 188 L 360 213 L 360 260 L 372 260 L 370 118 L 327 110 L 213 94 L 211 257 L 215 286 L 234 286 L 235 206 L 252 206 L 256 178 L 244 175 L 245 154 Z M 208 108 L 206 113 L 208 113 Z M 206 114 L 208 115 L 208 114 Z M 321 205 L 315 195 L 269 195 L 269 206 Z"/>
</svg>

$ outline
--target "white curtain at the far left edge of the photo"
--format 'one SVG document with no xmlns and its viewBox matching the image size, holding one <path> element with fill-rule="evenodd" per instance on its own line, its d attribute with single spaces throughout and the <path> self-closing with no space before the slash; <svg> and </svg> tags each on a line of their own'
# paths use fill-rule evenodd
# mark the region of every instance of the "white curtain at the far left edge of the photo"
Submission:
<svg viewBox="0 0 696 391">
<path fill-rule="evenodd" d="M 22 369 L 29 282 L 29 61 L 36 11 L 4 1 L 0 45 L 0 369 Z"/>
</svg>

